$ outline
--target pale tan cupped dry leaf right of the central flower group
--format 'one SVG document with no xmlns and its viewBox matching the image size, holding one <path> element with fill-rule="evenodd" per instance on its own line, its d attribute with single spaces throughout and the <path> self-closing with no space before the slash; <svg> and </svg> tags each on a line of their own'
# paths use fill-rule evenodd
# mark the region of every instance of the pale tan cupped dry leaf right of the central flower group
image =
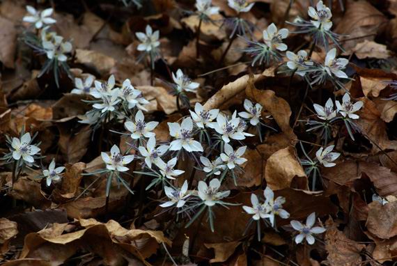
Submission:
<svg viewBox="0 0 397 266">
<path fill-rule="evenodd" d="M 274 152 L 267 159 L 265 167 L 265 179 L 267 186 L 273 190 L 290 187 L 291 182 L 297 176 L 297 186 L 300 189 L 308 189 L 307 178 L 301 164 L 296 159 L 293 148 L 283 148 Z"/>
</svg>

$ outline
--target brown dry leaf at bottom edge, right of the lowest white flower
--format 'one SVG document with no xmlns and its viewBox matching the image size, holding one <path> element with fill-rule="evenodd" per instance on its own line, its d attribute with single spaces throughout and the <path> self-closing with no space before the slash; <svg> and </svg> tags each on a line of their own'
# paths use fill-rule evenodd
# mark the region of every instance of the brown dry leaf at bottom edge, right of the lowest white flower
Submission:
<svg viewBox="0 0 397 266">
<path fill-rule="evenodd" d="M 364 244 L 350 240 L 343 232 L 338 230 L 332 218 L 325 223 L 325 249 L 327 249 L 327 260 L 329 265 L 355 266 L 361 263 L 361 251 L 365 249 Z"/>
</svg>

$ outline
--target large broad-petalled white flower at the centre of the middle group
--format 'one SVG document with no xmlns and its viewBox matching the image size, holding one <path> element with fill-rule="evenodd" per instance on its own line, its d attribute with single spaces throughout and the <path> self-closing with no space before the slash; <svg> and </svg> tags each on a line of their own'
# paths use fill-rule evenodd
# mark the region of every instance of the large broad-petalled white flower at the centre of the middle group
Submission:
<svg viewBox="0 0 397 266">
<path fill-rule="evenodd" d="M 175 139 L 170 143 L 169 150 L 180 150 L 184 148 L 187 152 L 202 152 L 203 146 L 193 139 L 192 118 L 185 118 L 181 125 L 179 123 L 168 123 L 169 134 Z"/>
</svg>

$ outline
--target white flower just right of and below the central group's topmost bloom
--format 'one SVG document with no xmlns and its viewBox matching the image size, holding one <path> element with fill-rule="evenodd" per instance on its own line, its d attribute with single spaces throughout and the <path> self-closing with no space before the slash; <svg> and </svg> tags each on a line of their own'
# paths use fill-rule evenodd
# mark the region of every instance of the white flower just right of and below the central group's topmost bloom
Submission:
<svg viewBox="0 0 397 266">
<path fill-rule="evenodd" d="M 240 118 L 232 117 L 231 120 L 227 120 L 223 114 L 218 114 L 217 122 L 212 122 L 211 127 L 221 134 L 224 142 L 229 143 L 231 141 L 230 139 L 245 139 L 244 134 L 237 130 L 239 124 Z"/>
</svg>

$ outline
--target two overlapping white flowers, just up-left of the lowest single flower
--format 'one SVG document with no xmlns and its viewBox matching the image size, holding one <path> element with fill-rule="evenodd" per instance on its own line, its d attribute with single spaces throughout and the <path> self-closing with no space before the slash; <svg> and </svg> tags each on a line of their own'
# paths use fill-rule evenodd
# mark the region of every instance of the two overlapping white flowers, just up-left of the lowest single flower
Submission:
<svg viewBox="0 0 397 266">
<path fill-rule="evenodd" d="M 282 219 L 288 219 L 290 214 L 283 209 L 283 204 L 286 203 L 286 198 L 279 196 L 274 199 L 274 192 L 270 187 L 266 187 L 263 191 L 265 201 L 260 203 L 256 194 L 251 194 L 252 207 L 242 206 L 245 212 L 252 214 L 252 219 L 258 221 L 259 219 L 269 219 L 270 224 L 274 226 L 274 217 L 279 216 Z"/>
</svg>

